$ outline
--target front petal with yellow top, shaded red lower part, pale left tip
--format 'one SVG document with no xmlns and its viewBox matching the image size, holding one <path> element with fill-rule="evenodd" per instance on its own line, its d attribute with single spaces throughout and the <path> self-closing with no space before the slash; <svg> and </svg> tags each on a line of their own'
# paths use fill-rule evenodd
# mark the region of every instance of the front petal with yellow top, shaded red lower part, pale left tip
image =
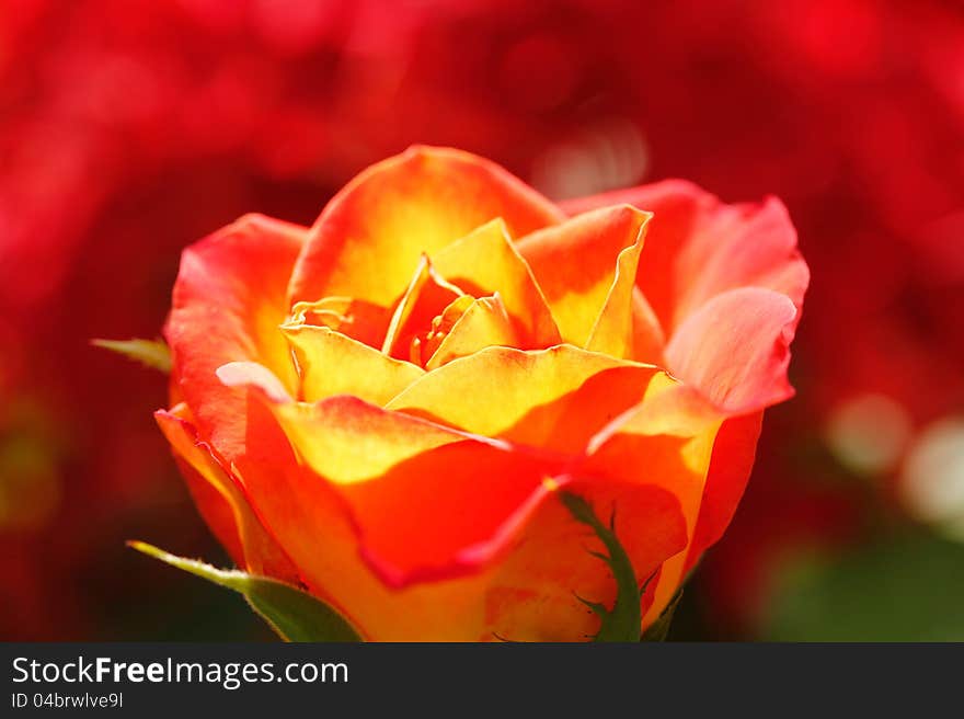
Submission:
<svg viewBox="0 0 964 719">
<path fill-rule="evenodd" d="M 263 387 L 261 369 L 228 365 L 219 376 L 260 390 L 298 456 L 351 509 L 366 558 L 393 585 L 474 568 L 552 473 L 505 443 L 355 397 L 295 403 Z"/>
</svg>

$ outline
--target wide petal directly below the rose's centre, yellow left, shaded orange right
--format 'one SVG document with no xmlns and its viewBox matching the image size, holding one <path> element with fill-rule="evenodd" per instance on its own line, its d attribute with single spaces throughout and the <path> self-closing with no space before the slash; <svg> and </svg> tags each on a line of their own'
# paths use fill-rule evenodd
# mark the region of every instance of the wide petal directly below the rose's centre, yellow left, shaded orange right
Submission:
<svg viewBox="0 0 964 719">
<path fill-rule="evenodd" d="M 571 345 L 490 347 L 435 369 L 388 409 L 543 449 L 581 453 L 638 402 L 656 368 Z"/>
</svg>

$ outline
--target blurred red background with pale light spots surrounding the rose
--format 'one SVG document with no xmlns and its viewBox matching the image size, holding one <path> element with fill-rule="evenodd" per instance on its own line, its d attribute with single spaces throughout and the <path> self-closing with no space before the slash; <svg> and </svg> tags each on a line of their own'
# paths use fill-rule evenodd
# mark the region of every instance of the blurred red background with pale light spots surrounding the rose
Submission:
<svg viewBox="0 0 964 719">
<path fill-rule="evenodd" d="M 184 246 L 248 212 L 310 224 L 412 142 L 554 198 L 780 196 L 813 270 L 799 393 L 677 634 L 964 638 L 960 612 L 830 627 L 841 581 L 864 606 L 964 567 L 937 538 L 964 538 L 952 0 L 0 0 L 0 638 L 265 636 L 124 549 L 223 560 L 151 418 L 163 376 L 89 342 L 158 334 Z M 907 602 L 954 613 L 934 593 Z"/>
</svg>

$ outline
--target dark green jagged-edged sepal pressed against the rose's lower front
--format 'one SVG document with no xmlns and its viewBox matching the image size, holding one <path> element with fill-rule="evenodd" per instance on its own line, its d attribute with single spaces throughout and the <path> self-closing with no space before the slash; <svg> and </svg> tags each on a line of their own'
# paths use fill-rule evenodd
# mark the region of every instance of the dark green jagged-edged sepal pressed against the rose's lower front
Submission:
<svg viewBox="0 0 964 719">
<path fill-rule="evenodd" d="M 636 584 L 636 574 L 626 549 L 616 536 L 616 513 L 609 518 L 607 527 L 593 512 L 589 503 L 571 492 L 562 492 L 560 499 L 576 522 L 589 526 L 602 541 L 608 555 L 590 551 L 594 557 L 605 561 L 612 570 L 616 579 L 616 603 L 609 609 L 597 602 L 589 602 L 579 596 L 576 598 L 595 612 L 600 619 L 599 631 L 593 641 L 639 641 L 642 613 L 640 597 L 653 577 L 646 579 L 642 586 Z"/>
</svg>

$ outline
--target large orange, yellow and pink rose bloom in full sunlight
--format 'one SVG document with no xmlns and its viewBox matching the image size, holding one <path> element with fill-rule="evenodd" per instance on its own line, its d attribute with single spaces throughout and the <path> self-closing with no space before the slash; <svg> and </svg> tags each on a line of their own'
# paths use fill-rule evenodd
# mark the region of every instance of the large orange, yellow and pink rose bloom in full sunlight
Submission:
<svg viewBox="0 0 964 719">
<path fill-rule="evenodd" d="M 792 393 L 806 284 L 776 199 L 664 182 L 560 207 L 413 148 L 310 229 L 249 216 L 184 252 L 157 418 L 238 564 L 366 638 L 584 639 L 577 597 L 616 583 L 560 492 L 656 573 L 652 623 Z"/>
</svg>

